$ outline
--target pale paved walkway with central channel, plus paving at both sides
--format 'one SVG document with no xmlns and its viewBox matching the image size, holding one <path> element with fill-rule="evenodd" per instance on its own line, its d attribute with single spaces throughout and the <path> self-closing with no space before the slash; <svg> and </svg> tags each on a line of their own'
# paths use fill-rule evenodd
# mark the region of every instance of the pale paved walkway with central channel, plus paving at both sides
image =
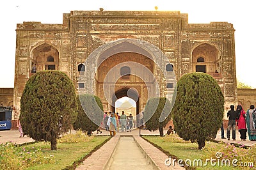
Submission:
<svg viewBox="0 0 256 170">
<path fill-rule="evenodd" d="M 164 130 L 164 133 L 166 133 L 166 130 Z M 119 164 L 122 161 L 127 164 L 131 164 L 131 162 L 134 162 L 133 158 L 136 157 L 137 160 L 140 159 L 141 161 L 140 166 L 147 166 L 150 165 L 152 167 L 147 167 L 146 169 L 183 169 L 182 167 L 168 167 L 165 166 L 164 161 L 168 158 L 167 155 L 165 155 L 162 151 L 158 150 L 156 147 L 152 146 L 152 144 L 148 143 L 144 139 L 140 137 L 141 135 L 159 135 L 159 131 L 156 130 L 154 132 L 150 132 L 149 130 L 139 130 L 135 129 L 131 132 L 117 132 L 115 137 L 112 137 L 106 144 L 104 144 L 99 150 L 92 153 L 92 155 L 86 160 L 84 160 L 83 164 L 77 167 L 77 169 L 113 169 L 112 167 L 118 167 L 122 166 L 122 169 L 124 169 L 126 166 L 125 164 Z M 109 135 L 109 132 L 106 130 L 102 130 L 102 134 L 97 134 L 96 132 L 93 132 L 93 135 Z M 225 137 L 227 135 L 227 131 L 225 130 Z M 122 140 L 122 136 L 129 136 L 128 139 Z M 121 138 L 121 140 L 120 140 Z M 248 138 L 248 137 L 247 137 Z M 134 140 L 134 141 L 133 141 Z M 244 144 L 246 146 L 252 146 L 256 142 L 249 141 L 248 139 L 246 141 L 241 141 L 239 139 L 239 132 L 236 130 L 236 141 L 228 141 L 227 139 L 221 139 L 221 132 L 218 131 L 218 134 L 216 136 L 216 140 L 223 141 L 225 143 L 237 143 L 237 144 Z M 22 144 L 22 143 L 29 143 L 34 141 L 33 139 L 25 136 L 25 137 L 19 137 L 18 130 L 5 130 L 0 131 L 0 144 L 6 143 L 8 141 L 12 141 L 16 144 Z M 118 144 L 118 142 L 120 142 Z M 129 141 L 129 142 L 128 142 Z M 131 142 L 132 141 L 132 142 Z M 130 145 L 131 144 L 131 145 Z M 117 146 L 117 147 L 116 147 Z M 125 148 L 125 153 L 127 151 L 130 151 L 130 153 L 125 156 L 121 155 L 120 157 L 125 157 L 124 160 L 118 160 L 118 154 L 120 154 L 120 151 L 118 151 L 118 147 Z M 141 150 L 141 153 L 138 152 L 139 147 Z M 135 155 L 132 155 L 134 152 Z M 115 155 L 117 154 L 117 155 Z M 145 158 L 145 159 L 144 159 Z M 143 160 L 142 160 L 143 159 Z M 118 165 L 119 164 L 119 165 Z M 175 164 L 177 165 L 177 164 Z M 138 169 L 139 165 L 137 167 L 132 167 L 129 169 Z"/>
</svg>

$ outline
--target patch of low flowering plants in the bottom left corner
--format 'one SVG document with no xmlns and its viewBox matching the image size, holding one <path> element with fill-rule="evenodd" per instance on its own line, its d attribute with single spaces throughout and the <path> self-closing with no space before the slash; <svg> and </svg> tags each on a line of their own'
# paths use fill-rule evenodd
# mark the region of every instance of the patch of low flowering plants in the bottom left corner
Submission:
<svg viewBox="0 0 256 170">
<path fill-rule="evenodd" d="M 26 169 L 38 164 L 54 164 L 53 155 L 45 156 L 41 148 L 0 144 L 0 169 Z"/>
</svg>

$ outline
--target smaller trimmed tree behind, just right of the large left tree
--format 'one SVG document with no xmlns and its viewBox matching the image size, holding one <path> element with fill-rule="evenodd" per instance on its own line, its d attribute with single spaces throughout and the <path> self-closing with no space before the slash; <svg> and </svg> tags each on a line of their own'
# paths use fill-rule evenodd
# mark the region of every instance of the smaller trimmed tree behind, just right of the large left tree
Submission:
<svg viewBox="0 0 256 170">
<path fill-rule="evenodd" d="M 78 115 L 74 122 L 74 129 L 81 129 L 91 134 L 99 128 L 103 119 L 103 105 L 100 98 L 94 95 L 77 96 Z"/>
</svg>

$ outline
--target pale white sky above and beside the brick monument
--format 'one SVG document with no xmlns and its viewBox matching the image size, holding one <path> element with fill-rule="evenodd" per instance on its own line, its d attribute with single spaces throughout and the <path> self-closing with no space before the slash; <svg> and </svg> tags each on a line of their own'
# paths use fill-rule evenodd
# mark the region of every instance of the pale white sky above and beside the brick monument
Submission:
<svg viewBox="0 0 256 170">
<path fill-rule="evenodd" d="M 253 0 L 9 0 L 0 1 L 0 88 L 13 88 L 15 72 L 16 24 L 38 21 L 43 24 L 62 24 L 63 13 L 73 10 L 158 10 L 188 13 L 189 23 L 233 24 L 236 43 L 237 78 L 256 88 L 255 66 L 255 5 Z"/>
</svg>

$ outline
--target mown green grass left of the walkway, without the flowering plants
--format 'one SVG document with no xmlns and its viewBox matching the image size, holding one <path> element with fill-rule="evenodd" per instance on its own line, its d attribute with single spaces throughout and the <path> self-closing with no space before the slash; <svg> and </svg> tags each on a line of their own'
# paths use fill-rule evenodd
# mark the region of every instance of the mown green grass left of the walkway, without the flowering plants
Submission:
<svg viewBox="0 0 256 170">
<path fill-rule="evenodd" d="M 45 155 L 53 155 L 56 160 L 56 164 L 44 164 L 38 165 L 34 167 L 29 167 L 28 169 L 65 169 L 69 166 L 68 169 L 72 169 L 72 165 L 74 162 L 79 160 L 83 160 L 86 155 L 93 151 L 94 149 L 101 146 L 104 143 L 108 136 L 95 136 L 92 140 L 83 143 L 58 143 L 57 150 L 52 151 L 50 150 L 51 145 L 50 143 L 34 143 L 29 144 L 29 147 L 40 147 Z"/>
</svg>

